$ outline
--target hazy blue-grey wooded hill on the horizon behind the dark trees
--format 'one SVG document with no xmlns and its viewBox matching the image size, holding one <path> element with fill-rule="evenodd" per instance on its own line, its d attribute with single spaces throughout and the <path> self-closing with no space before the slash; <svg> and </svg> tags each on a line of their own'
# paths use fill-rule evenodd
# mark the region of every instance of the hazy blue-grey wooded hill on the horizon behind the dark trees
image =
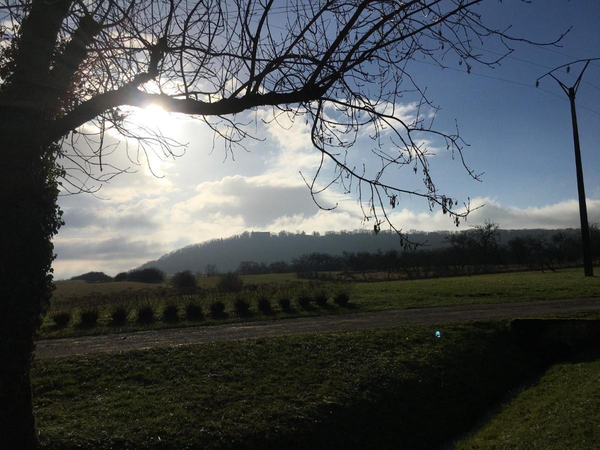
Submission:
<svg viewBox="0 0 600 450">
<path fill-rule="evenodd" d="M 547 229 L 521 229 L 499 230 L 499 244 L 510 241 L 516 237 L 524 236 L 551 236 L 559 231 L 568 235 L 576 233 L 575 229 L 547 230 Z M 426 242 L 421 250 L 445 247 L 445 239 L 452 235 L 449 231 L 418 232 L 410 231 L 409 238 L 412 242 Z M 199 244 L 188 245 L 161 256 L 159 259 L 144 263 L 140 268 L 156 267 L 173 275 L 190 269 L 193 272 L 203 273 L 206 265 L 216 265 L 218 272 L 235 271 L 240 262 L 253 261 L 257 263 L 272 263 L 276 261 L 291 262 L 294 258 L 307 253 L 328 253 L 341 255 L 348 252 L 376 253 L 378 250 L 401 251 L 400 238 L 394 232 L 382 231 L 374 235 L 370 230 L 355 230 L 353 232 L 326 232 L 305 234 L 279 232 L 244 232 L 241 235 L 224 239 L 212 239 Z"/>
</svg>

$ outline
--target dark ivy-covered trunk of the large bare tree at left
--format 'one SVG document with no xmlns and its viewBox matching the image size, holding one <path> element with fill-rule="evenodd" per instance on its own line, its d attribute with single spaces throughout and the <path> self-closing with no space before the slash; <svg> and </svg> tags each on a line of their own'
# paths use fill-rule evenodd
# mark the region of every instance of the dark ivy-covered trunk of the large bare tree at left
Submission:
<svg viewBox="0 0 600 450">
<path fill-rule="evenodd" d="M 31 397 L 35 332 L 52 295 L 56 207 L 56 146 L 27 133 L 34 119 L 0 113 L 0 448 L 37 446 Z"/>
</svg>

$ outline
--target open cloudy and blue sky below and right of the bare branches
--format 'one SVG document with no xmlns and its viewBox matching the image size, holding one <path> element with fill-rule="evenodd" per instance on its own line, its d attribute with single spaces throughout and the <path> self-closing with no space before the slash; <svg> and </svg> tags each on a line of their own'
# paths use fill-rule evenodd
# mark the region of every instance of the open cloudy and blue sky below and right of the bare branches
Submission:
<svg viewBox="0 0 600 450">
<path fill-rule="evenodd" d="M 467 222 L 455 227 L 441 211 L 429 210 L 415 196 L 401 196 L 391 211 L 392 223 L 409 230 L 464 230 L 486 218 L 504 229 L 579 227 L 577 183 L 566 95 L 545 77 L 551 68 L 580 58 L 600 58 L 600 4 L 595 0 L 544 0 L 525 4 L 491 1 L 481 8 L 484 21 L 536 41 L 551 41 L 572 26 L 560 47 L 511 44 L 515 51 L 500 67 L 473 66 L 472 73 L 456 61 L 440 69 L 413 61 L 409 70 L 428 97 L 441 107 L 436 127 L 452 131 L 458 123 L 469 146 L 469 167 L 483 173 L 474 181 L 450 152 L 430 158 L 437 188 L 461 202 L 481 206 Z M 487 18 L 487 19 L 486 19 Z M 481 47 L 483 55 L 498 49 Z M 582 67 L 559 73 L 573 83 Z M 600 61 L 583 76 L 577 94 L 577 116 L 590 221 L 600 221 Z M 415 104 L 407 100 L 400 112 L 410 116 Z M 266 118 L 264 110 L 248 120 Z M 135 173 L 119 175 L 100 191 L 59 197 L 65 226 L 55 237 L 55 278 L 88 271 L 109 275 L 135 268 L 169 251 L 212 238 L 248 231 L 353 230 L 363 223 L 356 193 L 329 190 L 319 197 L 333 211 L 320 210 L 299 172 L 310 175 L 320 154 L 313 149 L 307 125 L 256 125 L 260 140 L 247 140 L 247 151 L 226 154 L 213 148 L 212 132 L 198 121 L 168 115 L 154 107 L 136 110 L 132 121 L 158 127 L 167 136 L 187 143 L 178 158 L 150 154 L 139 165 L 127 158 L 125 142 L 115 143 L 111 162 L 131 166 Z M 373 163 L 365 133 L 351 150 L 353 161 Z M 434 147 L 435 150 L 435 147 Z M 136 161 L 136 155 L 130 157 Z M 331 167 L 326 167 L 330 170 Z M 398 185 L 415 182 L 410 168 L 392 174 Z M 419 178 L 420 179 L 420 178 Z M 376 251 L 376 249 L 374 249 Z"/>
</svg>

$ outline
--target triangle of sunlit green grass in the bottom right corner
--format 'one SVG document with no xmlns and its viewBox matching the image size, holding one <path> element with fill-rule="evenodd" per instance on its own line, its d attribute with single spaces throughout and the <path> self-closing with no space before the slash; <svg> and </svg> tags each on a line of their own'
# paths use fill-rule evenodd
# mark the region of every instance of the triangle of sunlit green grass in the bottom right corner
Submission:
<svg viewBox="0 0 600 450">
<path fill-rule="evenodd" d="M 554 365 L 455 448 L 600 448 L 600 360 Z"/>
</svg>

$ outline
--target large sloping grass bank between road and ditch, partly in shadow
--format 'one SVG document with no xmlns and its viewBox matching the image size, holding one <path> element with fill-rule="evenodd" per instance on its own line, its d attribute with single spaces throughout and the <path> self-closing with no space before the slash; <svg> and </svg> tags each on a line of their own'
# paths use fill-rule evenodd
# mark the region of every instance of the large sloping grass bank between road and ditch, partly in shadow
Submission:
<svg viewBox="0 0 600 450">
<path fill-rule="evenodd" d="M 45 449 L 430 449 L 537 370 L 520 347 L 479 322 L 56 358 L 35 416 Z"/>
</svg>

